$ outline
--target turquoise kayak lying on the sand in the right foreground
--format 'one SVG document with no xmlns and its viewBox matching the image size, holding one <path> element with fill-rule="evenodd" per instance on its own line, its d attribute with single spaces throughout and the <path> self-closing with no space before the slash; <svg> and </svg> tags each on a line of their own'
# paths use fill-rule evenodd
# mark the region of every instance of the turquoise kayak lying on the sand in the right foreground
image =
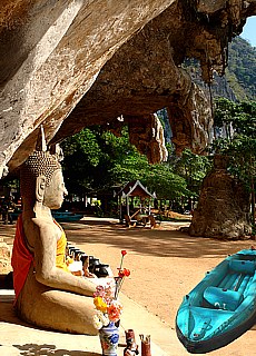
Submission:
<svg viewBox="0 0 256 356">
<path fill-rule="evenodd" d="M 184 297 L 176 316 L 179 340 L 191 354 L 223 347 L 256 323 L 256 250 L 228 256 Z"/>
</svg>

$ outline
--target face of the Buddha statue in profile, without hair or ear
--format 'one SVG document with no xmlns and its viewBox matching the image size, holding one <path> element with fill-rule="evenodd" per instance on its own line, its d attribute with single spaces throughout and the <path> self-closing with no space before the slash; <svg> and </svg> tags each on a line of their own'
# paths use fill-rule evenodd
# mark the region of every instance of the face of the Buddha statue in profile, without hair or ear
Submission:
<svg viewBox="0 0 256 356">
<path fill-rule="evenodd" d="M 50 209 L 59 209 L 68 191 L 65 187 L 62 171 L 60 169 L 53 172 L 51 182 L 46 187 L 43 205 Z"/>
</svg>

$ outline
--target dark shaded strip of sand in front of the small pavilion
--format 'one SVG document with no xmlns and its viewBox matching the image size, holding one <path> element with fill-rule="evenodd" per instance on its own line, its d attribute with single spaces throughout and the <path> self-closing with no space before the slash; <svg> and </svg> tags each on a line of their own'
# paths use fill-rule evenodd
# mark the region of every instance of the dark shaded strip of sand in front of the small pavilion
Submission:
<svg viewBox="0 0 256 356">
<path fill-rule="evenodd" d="M 250 248 L 253 240 L 218 240 L 213 238 L 190 237 L 180 225 L 163 224 L 160 228 L 127 228 L 120 224 L 97 221 L 79 221 L 62 224 L 68 240 L 75 244 L 106 244 L 114 247 L 132 249 L 138 254 L 158 257 L 226 257 L 228 254 Z M 198 246 L 200 248 L 198 248 Z"/>
</svg>

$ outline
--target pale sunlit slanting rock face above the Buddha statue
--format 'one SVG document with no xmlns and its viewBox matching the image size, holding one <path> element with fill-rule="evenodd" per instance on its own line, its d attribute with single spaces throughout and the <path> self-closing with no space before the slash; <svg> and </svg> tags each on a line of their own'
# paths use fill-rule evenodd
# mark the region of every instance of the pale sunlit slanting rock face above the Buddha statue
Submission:
<svg viewBox="0 0 256 356">
<path fill-rule="evenodd" d="M 49 141 L 106 61 L 173 2 L 1 1 L 0 167 L 20 165 L 40 123 Z"/>
</svg>

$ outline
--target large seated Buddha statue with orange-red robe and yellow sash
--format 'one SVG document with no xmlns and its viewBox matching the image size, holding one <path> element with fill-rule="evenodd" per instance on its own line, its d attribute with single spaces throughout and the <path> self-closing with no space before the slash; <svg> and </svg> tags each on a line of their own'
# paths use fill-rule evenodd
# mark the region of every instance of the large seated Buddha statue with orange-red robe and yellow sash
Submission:
<svg viewBox="0 0 256 356">
<path fill-rule="evenodd" d="M 20 188 L 23 209 L 12 251 L 18 316 L 43 328 L 96 335 L 97 283 L 68 270 L 65 231 L 51 216 L 67 195 L 58 157 L 33 151 L 20 169 Z"/>
</svg>

